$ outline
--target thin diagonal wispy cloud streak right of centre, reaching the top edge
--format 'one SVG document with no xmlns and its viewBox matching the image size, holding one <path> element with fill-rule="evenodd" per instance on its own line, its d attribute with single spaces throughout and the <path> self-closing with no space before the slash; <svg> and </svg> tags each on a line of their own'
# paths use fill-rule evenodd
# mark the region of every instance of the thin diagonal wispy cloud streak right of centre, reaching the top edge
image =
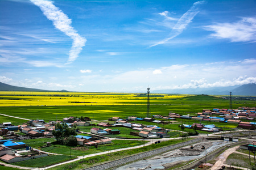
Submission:
<svg viewBox="0 0 256 170">
<path fill-rule="evenodd" d="M 199 13 L 199 9 L 197 7 L 203 3 L 205 2 L 198 1 L 193 3 L 193 6 L 187 12 L 185 12 L 185 14 L 181 16 L 181 18 L 175 24 L 174 28 L 172 28 L 170 36 L 167 39 L 161 40 L 153 45 L 150 45 L 149 47 L 156 46 L 159 44 L 165 44 L 167 41 L 174 39 L 176 36 L 180 35 L 187 27 L 187 25 L 192 22 L 192 19 L 196 16 L 196 14 Z M 167 12 L 162 12 L 160 14 L 166 16 Z"/>
</svg>

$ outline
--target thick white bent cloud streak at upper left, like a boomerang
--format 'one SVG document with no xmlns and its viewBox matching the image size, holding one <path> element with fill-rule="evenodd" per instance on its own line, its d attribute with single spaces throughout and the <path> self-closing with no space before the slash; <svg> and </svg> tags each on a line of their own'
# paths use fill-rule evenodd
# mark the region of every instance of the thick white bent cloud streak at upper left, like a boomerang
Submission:
<svg viewBox="0 0 256 170">
<path fill-rule="evenodd" d="M 82 46 L 85 46 L 86 39 L 81 37 L 77 31 L 71 26 L 71 19 L 63 13 L 59 8 L 52 4 L 52 1 L 47 0 L 30 0 L 36 6 L 40 7 L 44 15 L 53 22 L 53 25 L 64 32 L 65 35 L 71 37 L 73 40 L 72 48 L 69 51 L 69 58 L 67 63 L 72 63 L 79 57 Z"/>
</svg>

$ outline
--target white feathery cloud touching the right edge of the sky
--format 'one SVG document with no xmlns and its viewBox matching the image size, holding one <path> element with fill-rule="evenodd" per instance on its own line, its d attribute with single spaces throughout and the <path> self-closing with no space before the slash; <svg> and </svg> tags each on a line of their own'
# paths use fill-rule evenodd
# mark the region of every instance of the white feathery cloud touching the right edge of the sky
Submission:
<svg viewBox="0 0 256 170">
<path fill-rule="evenodd" d="M 216 23 L 204 27 L 211 37 L 232 42 L 256 42 L 256 18 L 242 18 L 235 23 Z"/>
</svg>

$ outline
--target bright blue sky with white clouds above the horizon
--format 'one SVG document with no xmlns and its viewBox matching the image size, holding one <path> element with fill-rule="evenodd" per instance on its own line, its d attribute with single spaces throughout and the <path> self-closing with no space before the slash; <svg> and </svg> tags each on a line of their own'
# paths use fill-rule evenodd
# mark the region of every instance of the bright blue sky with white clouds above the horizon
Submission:
<svg viewBox="0 0 256 170">
<path fill-rule="evenodd" d="M 0 82 L 145 92 L 256 82 L 256 1 L 0 1 Z"/>
</svg>

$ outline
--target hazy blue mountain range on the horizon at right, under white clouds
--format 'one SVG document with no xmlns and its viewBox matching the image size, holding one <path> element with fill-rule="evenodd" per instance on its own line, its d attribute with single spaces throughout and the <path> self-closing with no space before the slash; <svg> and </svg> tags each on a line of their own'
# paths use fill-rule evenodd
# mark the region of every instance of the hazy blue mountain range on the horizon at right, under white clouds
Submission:
<svg viewBox="0 0 256 170">
<path fill-rule="evenodd" d="M 243 96 L 256 96 L 256 84 L 243 84 L 242 86 L 229 86 L 229 87 L 210 87 L 210 88 L 186 88 L 176 90 L 154 90 L 152 93 L 163 94 L 193 94 L 193 95 L 243 95 Z"/>
</svg>

